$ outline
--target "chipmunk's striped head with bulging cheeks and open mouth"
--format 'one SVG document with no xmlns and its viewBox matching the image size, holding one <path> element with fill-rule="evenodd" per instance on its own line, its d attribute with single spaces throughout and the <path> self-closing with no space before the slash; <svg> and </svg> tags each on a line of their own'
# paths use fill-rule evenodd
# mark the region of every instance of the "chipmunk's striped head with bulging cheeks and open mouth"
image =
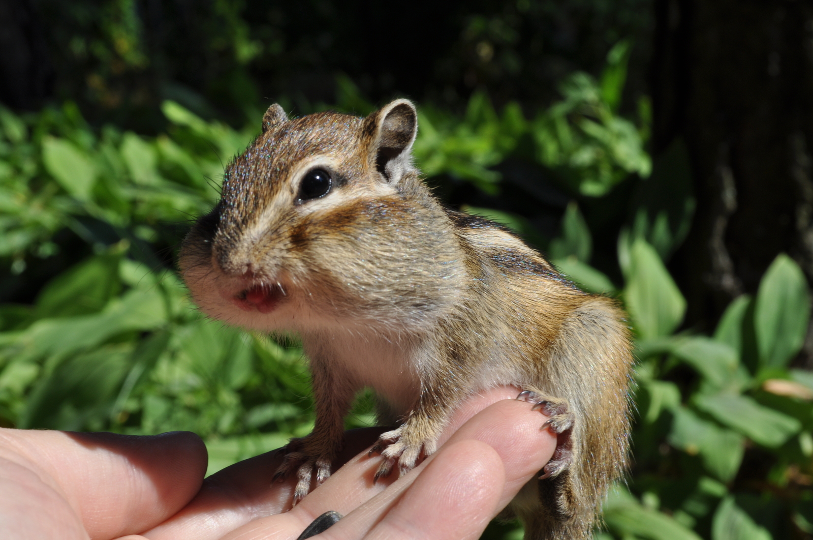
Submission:
<svg viewBox="0 0 813 540">
<path fill-rule="evenodd" d="M 457 254 L 412 165 L 417 127 L 406 99 L 367 118 L 269 107 L 180 251 L 202 310 L 256 329 L 425 319 L 427 286 L 457 272 Z"/>
</svg>

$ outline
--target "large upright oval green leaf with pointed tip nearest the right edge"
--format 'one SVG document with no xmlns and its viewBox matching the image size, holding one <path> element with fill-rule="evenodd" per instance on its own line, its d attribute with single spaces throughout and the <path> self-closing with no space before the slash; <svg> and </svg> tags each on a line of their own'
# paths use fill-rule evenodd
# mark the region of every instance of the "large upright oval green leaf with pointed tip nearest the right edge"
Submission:
<svg viewBox="0 0 813 540">
<path fill-rule="evenodd" d="M 802 269 L 780 254 L 759 283 L 754 328 L 763 368 L 784 368 L 802 349 L 811 300 Z"/>
</svg>

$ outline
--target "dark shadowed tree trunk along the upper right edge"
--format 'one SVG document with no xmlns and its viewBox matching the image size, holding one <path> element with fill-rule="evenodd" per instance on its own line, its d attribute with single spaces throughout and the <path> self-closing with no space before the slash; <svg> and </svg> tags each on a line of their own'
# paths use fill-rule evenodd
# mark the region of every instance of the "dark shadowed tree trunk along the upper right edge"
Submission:
<svg viewBox="0 0 813 540">
<path fill-rule="evenodd" d="M 654 150 L 683 137 L 697 214 L 672 264 L 711 327 L 788 253 L 813 278 L 813 3 L 658 0 Z"/>
</svg>

